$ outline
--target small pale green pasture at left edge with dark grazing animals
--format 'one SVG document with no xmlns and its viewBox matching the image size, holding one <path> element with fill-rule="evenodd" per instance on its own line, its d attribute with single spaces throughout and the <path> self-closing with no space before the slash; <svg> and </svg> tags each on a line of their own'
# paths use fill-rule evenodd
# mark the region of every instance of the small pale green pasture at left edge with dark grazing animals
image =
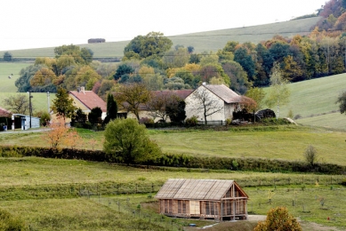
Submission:
<svg viewBox="0 0 346 231">
<path fill-rule="evenodd" d="M 27 68 L 29 65 L 28 62 L 0 62 L 0 94 L 17 92 L 14 82 L 20 77 L 20 70 Z M 11 76 L 11 78 L 8 76 Z"/>
</svg>

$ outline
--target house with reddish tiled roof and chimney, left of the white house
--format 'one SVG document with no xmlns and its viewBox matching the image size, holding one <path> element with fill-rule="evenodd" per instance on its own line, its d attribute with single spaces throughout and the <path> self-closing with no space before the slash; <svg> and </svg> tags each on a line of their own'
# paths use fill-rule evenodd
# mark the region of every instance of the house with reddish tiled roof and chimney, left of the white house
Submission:
<svg viewBox="0 0 346 231">
<path fill-rule="evenodd" d="M 85 91 L 84 87 L 80 87 L 77 91 L 68 93 L 74 100 L 76 108 L 81 108 L 86 115 L 88 115 L 93 108 L 99 107 L 102 110 L 102 120 L 107 116 L 107 104 L 95 92 Z"/>
</svg>

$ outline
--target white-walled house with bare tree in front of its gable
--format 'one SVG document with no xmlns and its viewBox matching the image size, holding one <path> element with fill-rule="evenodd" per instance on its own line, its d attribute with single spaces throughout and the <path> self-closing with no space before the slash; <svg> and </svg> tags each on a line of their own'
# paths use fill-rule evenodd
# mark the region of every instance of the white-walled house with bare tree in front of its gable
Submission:
<svg viewBox="0 0 346 231">
<path fill-rule="evenodd" d="M 240 101 L 241 97 L 224 84 L 202 84 L 185 99 L 186 116 L 197 116 L 202 123 L 224 124 L 232 119 Z"/>
</svg>

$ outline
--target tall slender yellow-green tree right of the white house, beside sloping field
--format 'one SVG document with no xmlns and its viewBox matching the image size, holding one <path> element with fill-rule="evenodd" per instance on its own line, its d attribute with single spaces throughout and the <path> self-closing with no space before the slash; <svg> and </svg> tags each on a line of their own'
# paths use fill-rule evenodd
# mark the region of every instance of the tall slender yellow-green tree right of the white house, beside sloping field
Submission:
<svg viewBox="0 0 346 231">
<path fill-rule="evenodd" d="M 274 64 L 270 75 L 270 91 L 267 94 L 266 104 L 272 108 L 277 106 L 277 118 L 280 112 L 280 106 L 284 106 L 289 102 L 291 92 L 287 87 L 288 81 L 283 78 L 279 64 Z"/>
</svg>

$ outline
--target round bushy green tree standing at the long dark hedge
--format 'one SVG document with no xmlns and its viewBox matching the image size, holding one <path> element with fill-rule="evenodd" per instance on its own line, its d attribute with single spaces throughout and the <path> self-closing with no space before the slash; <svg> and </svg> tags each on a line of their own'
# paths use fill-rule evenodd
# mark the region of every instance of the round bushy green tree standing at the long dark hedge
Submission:
<svg viewBox="0 0 346 231">
<path fill-rule="evenodd" d="M 134 119 L 117 119 L 109 122 L 105 130 L 103 150 L 112 158 L 127 165 L 146 163 L 161 154 L 157 144 L 149 139 L 145 125 Z"/>
</svg>

